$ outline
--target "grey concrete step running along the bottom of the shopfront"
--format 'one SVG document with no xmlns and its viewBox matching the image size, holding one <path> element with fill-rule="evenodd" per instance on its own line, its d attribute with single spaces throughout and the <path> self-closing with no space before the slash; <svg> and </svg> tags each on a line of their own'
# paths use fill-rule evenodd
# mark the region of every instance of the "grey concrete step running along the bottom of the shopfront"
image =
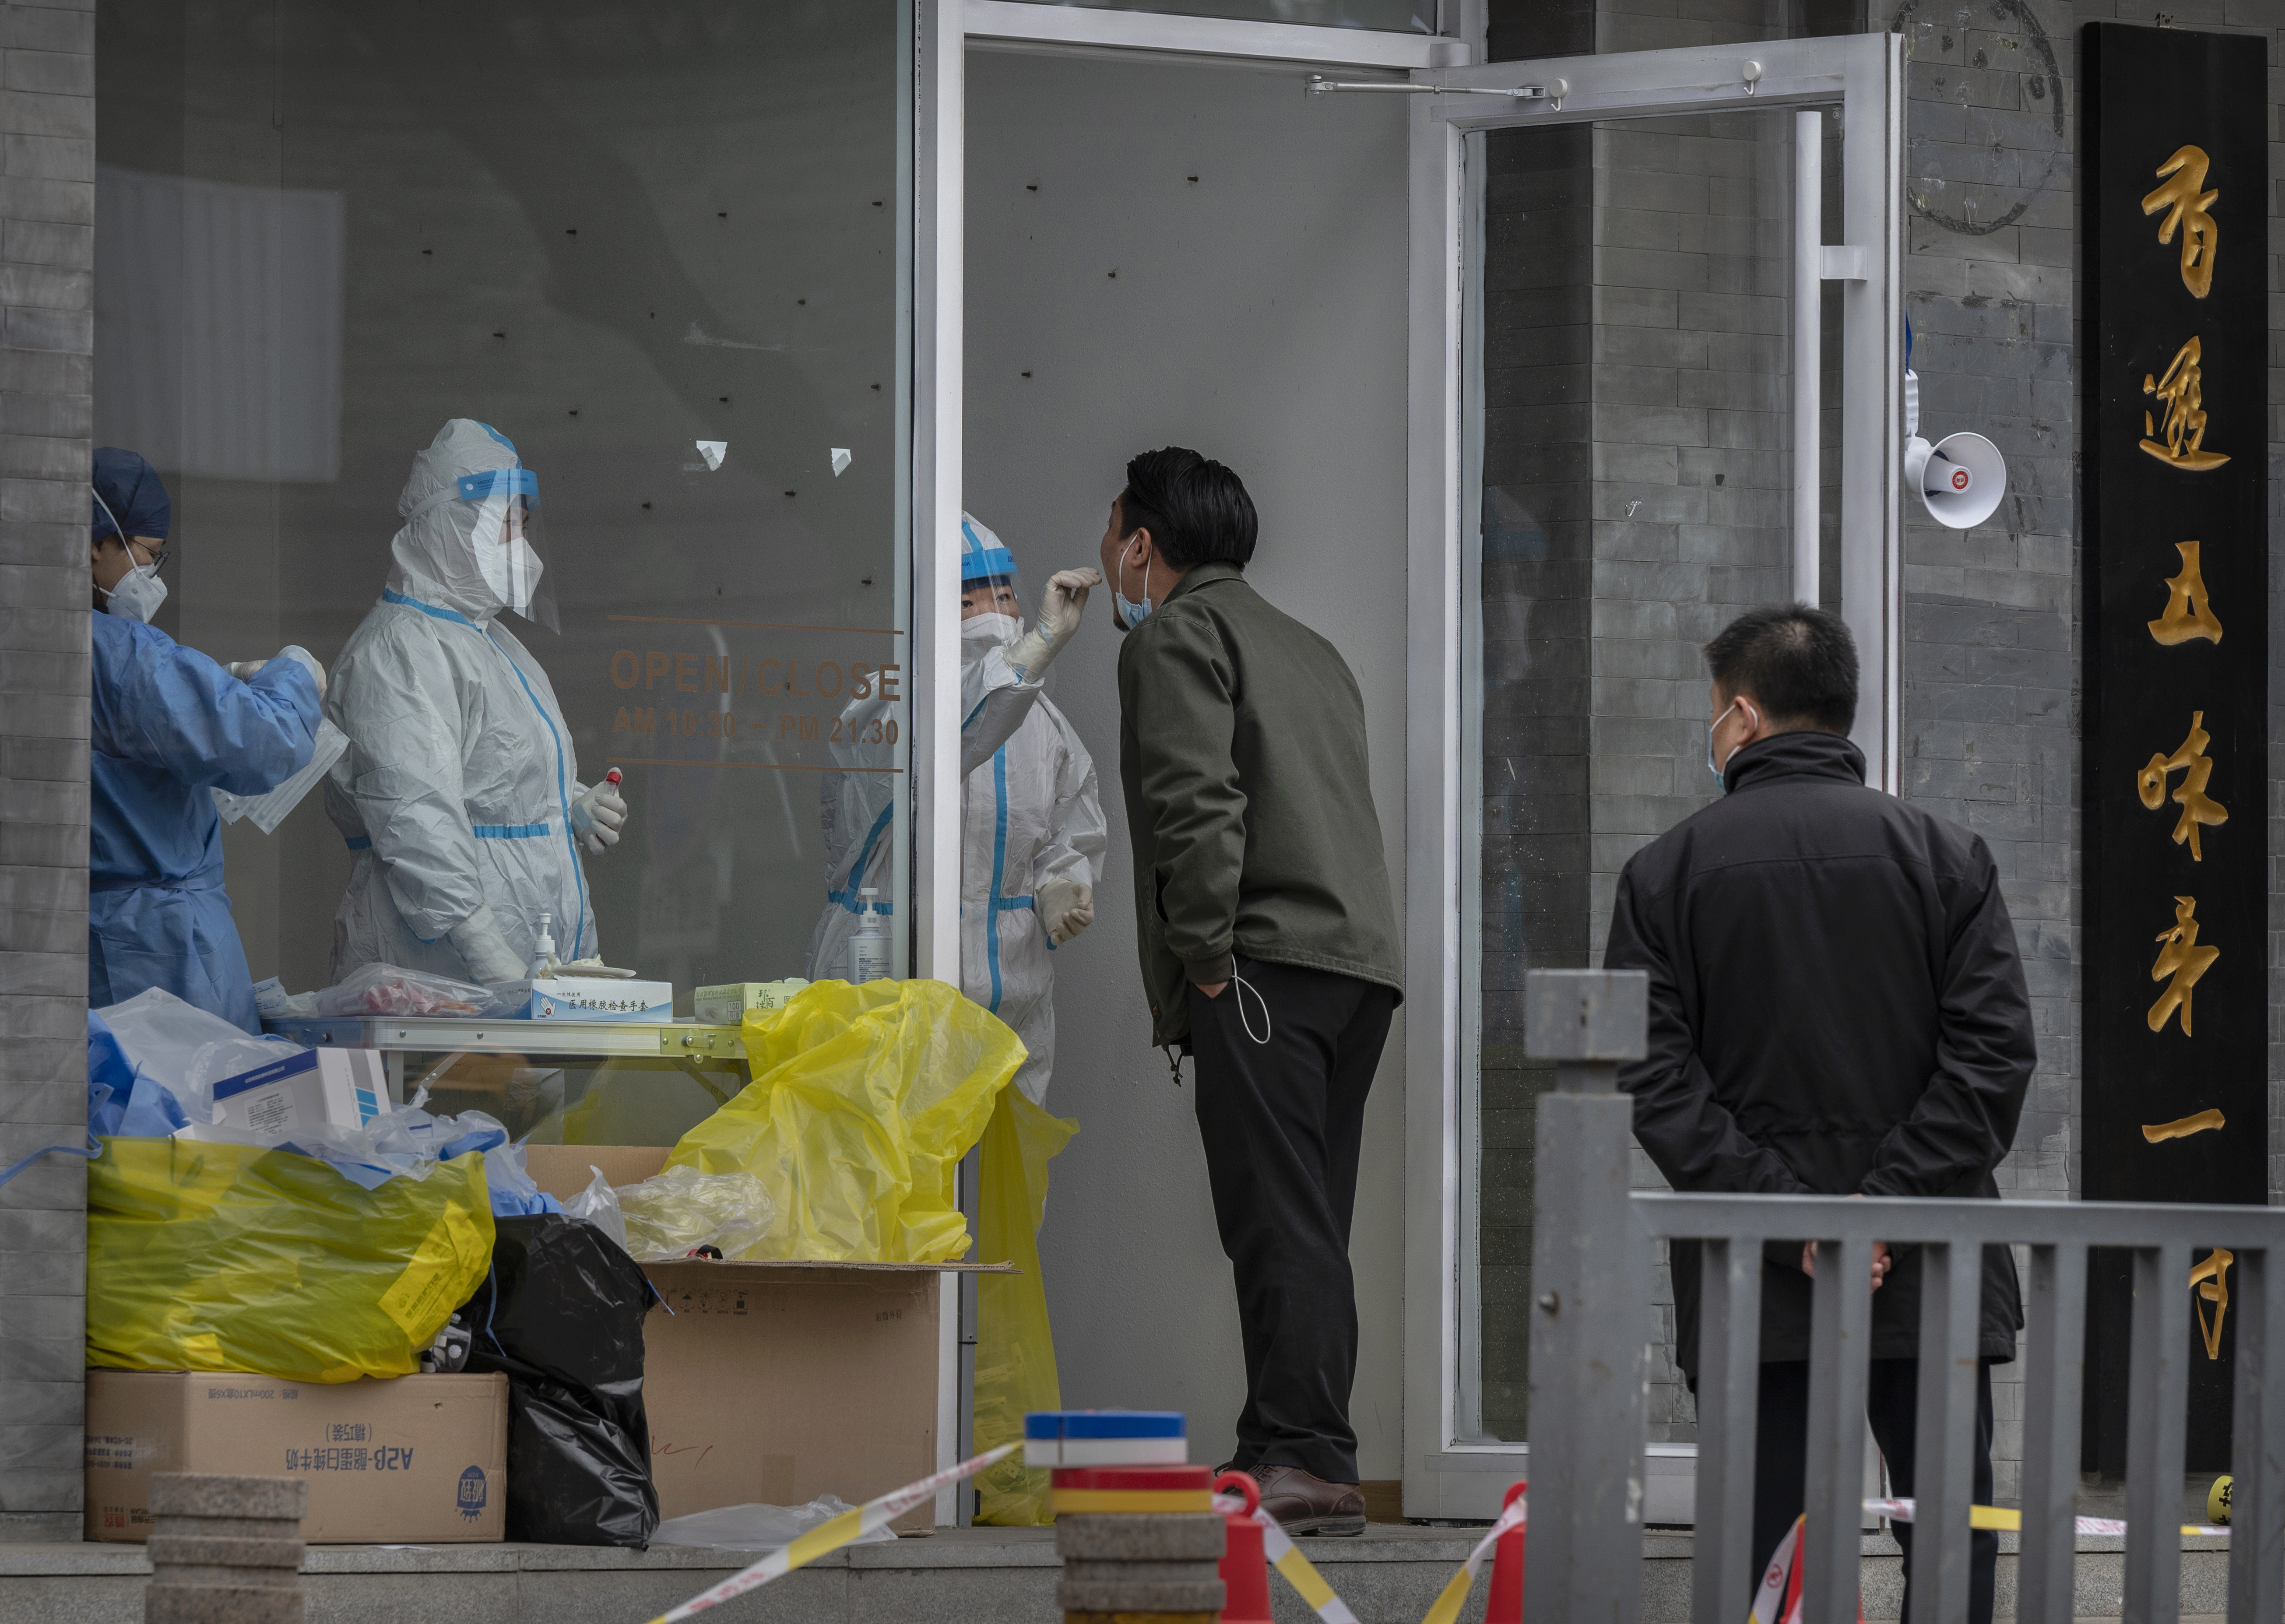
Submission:
<svg viewBox="0 0 2285 1624">
<path fill-rule="evenodd" d="M 1357 1539 L 1302 1539 L 1302 1553 L 1362 1624 L 1419 1624 L 1481 1530 L 1373 1523 Z M 2013 1535 L 2002 1535 L 1999 1615 L 2015 1610 Z M 2082 1539 L 2077 1615 L 2116 1619 L 2125 1558 L 2118 1539 Z M 656 1546 L 459 1544 L 311 1546 L 308 1624 L 642 1624 L 754 1560 L 749 1551 Z M 2182 1542 L 2182 1613 L 2228 1610 L 2228 1542 Z M 868 1544 L 813 1562 L 715 1608 L 722 1624 L 1058 1624 L 1056 1537 L 1049 1528 L 955 1528 Z M 142 1624 L 151 1576 L 133 1544 L 0 1544 L 0 1619 Z M 1467 1617 L 1483 1608 L 1483 1581 Z M 1270 1576 L 1280 1624 L 1314 1613 Z M 1865 1617 L 1901 1615 L 1903 1567 L 1892 1539 L 1865 1539 Z M 1643 1624 L 1686 1624 L 1691 1537 L 1657 1533 L 1643 1551 Z M 1739 1597 L 1739 1617 L 1746 1597 Z"/>
</svg>

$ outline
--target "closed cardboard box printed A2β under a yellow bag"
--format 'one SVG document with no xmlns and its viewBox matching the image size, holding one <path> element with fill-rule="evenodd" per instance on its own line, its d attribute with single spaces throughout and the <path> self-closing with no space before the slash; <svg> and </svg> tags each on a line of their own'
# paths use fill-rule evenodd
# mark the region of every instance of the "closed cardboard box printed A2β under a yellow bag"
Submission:
<svg viewBox="0 0 2285 1624">
<path fill-rule="evenodd" d="M 311 1544 L 464 1544 L 507 1523 L 507 1377 L 87 1373 L 87 1537 L 146 1539 L 153 1471 L 308 1480 Z"/>
</svg>

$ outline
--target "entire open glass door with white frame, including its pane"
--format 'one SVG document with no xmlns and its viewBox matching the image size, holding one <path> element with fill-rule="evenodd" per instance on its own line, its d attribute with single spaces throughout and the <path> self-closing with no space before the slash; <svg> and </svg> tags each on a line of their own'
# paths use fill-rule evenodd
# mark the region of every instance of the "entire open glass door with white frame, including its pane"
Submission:
<svg viewBox="0 0 2285 1624">
<path fill-rule="evenodd" d="M 1894 783 L 1894 62 L 1860 37 L 1414 75 L 1472 89 L 1414 110 L 1440 432 L 1412 475 L 1412 984 L 1442 964 L 1446 998 L 1414 994 L 1408 1039 L 1412 1517 L 1490 1517 L 1526 1469 L 1554 1078 L 1522 978 L 1602 964 L 1620 866 L 1718 793 L 1700 646 L 1755 603 L 1844 612 Z M 1695 1439 L 1670 1302 L 1661 1259 L 1661 1523 L 1691 1519 Z"/>
</svg>

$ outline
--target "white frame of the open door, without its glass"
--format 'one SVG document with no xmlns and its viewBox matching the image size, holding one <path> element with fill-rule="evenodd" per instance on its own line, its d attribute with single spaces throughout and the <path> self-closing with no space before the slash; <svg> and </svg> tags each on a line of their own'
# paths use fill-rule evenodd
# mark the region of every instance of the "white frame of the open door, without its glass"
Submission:
<svg viewBox="0 0 2285 1624">
<path fill-rule="evenodd" d="M 1405 1514 L 1494 1517 L 1526 1476 L 1526 1446 L 1483 1444 L 1462 1428 L 1462 1268 L 1472 1247 L 1474 1179 L 1465 1099 L 1474 1078 L 1462 1030 L 1474 973 L 1467 895 L 1469 815 L 1465 660 L 1465 489 L 1469 400 L 1469 244 L 1476 192 L 1469 132 L 1593 119 L 1839 105 L 1844 238 L 1826 254 L 1844 279 L 1842 308 L 1842 605 L 1858 637 L 1865 699 L 1858 745 L 1876 786 L 1897 788 L 1901 653 L 1897 448 L 1903 411 L 1903 41 L 1897 34 L 1764 41 L 1732 48 L 1638 50 L 1609 57 L 1435 69 L 1414 82 L 1524 89 L 1531 98 L 1417 96 L 1412 107 L 1412 352 L 1408 471 L 1408 804 L 1405 804 Z M 1830 270 L 1826 270 L 1830 267 Z M 1814 468 L 1798 471 L 1814 482 Z M 1650 1521 L 1689 1521 L 1691 1446 L 1654 1446 Z"/>
</svg>

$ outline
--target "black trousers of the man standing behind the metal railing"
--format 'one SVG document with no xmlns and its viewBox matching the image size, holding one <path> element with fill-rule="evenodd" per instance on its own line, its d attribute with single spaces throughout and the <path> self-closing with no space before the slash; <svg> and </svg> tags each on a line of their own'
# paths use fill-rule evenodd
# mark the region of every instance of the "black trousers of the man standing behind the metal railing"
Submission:
<svg viewBox="0 0 2285 1624">
<path fill-rule="evenodd" d="M 1887 1487 L 1897 1498 L 1913 1494 L 1913 1444 L 1919 1425 L 1919 1359 L 1874 1359 L 1865 1389 L 1865 1418 L 1887 1457 Z M 1791 1359 L 1762 1366 L 1762 1414 L 1755 1425 L 1753 1464 L 1753 1583 L 1759 1587 L 1769 1558 L 1807 1503 L 1810 1462 L 1810 1364 Z M 1974 1501 L 1993 1503 L 1993 1364 L 1977 1364 L 1977 1464 Z M 1913 1617 L 1913 1526 L 1890 1523 L 1903 1546 L 1903 1617 Z M 1970 1537 L 1967 1624 L 1990 1624 L 1993 1583 L 1999 1574 L 1999 1535 L 1979 1528 Z M 1753 1597 L 1746 1597 L 1750 1603 Z"/>
</svg>

